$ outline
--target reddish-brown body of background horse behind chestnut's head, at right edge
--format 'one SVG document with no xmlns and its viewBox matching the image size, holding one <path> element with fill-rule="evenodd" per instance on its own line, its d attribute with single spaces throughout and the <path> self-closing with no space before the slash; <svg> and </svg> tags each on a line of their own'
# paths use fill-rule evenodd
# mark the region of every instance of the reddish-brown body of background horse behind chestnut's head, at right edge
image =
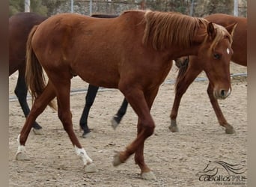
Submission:
<svg viewBox="0 0 256 187">
<path fill-rule="evenodd" d="M 205 19 L 222 26 L 228 26 L 237 22 L 237 28 L 234 31 L 232 43 L 234 55 L 232 56 L 231 61 L 247 66 L 247 18 L 231 16 L 225 13 L 215 13 L 210 16 L 206 16 Z"/>
</svg>

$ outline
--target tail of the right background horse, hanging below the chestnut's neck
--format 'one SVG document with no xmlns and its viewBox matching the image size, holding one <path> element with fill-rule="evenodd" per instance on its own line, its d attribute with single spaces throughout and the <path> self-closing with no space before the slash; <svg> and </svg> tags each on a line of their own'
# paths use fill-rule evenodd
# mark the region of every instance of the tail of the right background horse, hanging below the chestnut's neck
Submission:
<svg viewBox="0 0 256 187">
<path fill-rule="evenodd" d="M 185 76 L 186 70 L 189 67 L 189 56 L 178 58 L 175 60 L 175 65 L 179 68 L 175 82 L 175 91 L 177 91 L 177 83 Z"/>
</svg>

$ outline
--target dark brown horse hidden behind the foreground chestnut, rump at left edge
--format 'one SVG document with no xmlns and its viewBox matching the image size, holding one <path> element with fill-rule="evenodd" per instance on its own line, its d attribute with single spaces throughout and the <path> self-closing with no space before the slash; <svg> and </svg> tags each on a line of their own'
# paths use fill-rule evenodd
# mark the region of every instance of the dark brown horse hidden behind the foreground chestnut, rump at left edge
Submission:
<svg viewBox="0 0 256 187">
<path fill-rule="evenodd" d="M 115 15 L 104 14 L 94 14 L 92 16 L 99 18 L 116 17 Z M 19 105 L 21 106 L 25 117 L 28 116 L 30 111 L 27 102 L 28 88 L 25 84 L 25 44 L 31 28 L 33 28 L 34 25 L 39 25 L 45 19 L 47 19 L 46 16 L 40 16 L 37 13 L 28 12 L 16 13 L 14 16 L 10 16 L 9 18 L 9 76 L 15 73 L 16 70 L 19 71 L 14 93 L 19 100 Z M 85 109 L 80 120 L 82 121 L 82 124 L 84 124 L 83 121 L 85 120 L 83 119 L 85 119 L 85 115 L 88 116 L 88 114 L 86 114 L 88 111 L 88 105 L 92 105 L 91 100 L 95 93 L 94 86 L 89 86 L 88 93 L 89 94 L 86 99 L 87 105 L 85 105 Z M 84 126 L 87 126 L 87 123 Z M 33 131 L 37 135 L 43 134 L 42 127 L 36 121 L 33 123 Z"/>
</svg>

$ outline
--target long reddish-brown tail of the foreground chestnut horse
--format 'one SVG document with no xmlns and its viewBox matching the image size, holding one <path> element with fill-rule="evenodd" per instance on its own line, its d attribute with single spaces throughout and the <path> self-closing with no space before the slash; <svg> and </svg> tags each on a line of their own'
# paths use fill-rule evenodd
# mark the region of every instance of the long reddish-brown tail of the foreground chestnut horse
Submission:
<svg viewBox="0 0 256 187">
<path fill-rule="evenodd" d="M 28 87 L 28 91 L 31 93 L 32 102 L 37 96 L 43 93 L 46 87 L 46 79 L 43 74 L 43 67 L 40 65 L 37 56 L 34 54 L 34 50 L 31 46 L 31 40 L 34 36 L 34 32 L 37 30 L 37 25 L 35 25 L 28 35 L 27 45 L 26 45 L 26 68 L 25 68 L 25 82 Z M 53 100 L 48 104 L 50 107 L 56 109 L 55 102 Z"/>
</svg>

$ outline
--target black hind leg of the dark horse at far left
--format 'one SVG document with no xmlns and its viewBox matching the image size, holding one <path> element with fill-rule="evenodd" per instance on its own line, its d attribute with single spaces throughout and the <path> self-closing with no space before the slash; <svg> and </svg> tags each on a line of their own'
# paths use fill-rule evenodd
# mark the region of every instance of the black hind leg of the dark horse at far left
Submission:
<svg viewBox="0 0 256 187">
<path fill-rule="evenodd" d="M 16 88 L 14 90 L 14 93 L 18 97 L 19 105 L 21 106 L 25 117 L 28 117 L 28 114 L 30 112 L 30 109 L 28 107 L 28 102 L 27 102 L 28 88 L 27 88 L 27 85 L 25 84 L 25 75 L 21 70 L 19 70 L 19 77 L 18 77 L 18 81 L 17 81 Z M 34 128 L 33 131 L 36 135 L 43 135 L 43 129 L 36 121 L 34 121 L 32 127 Z"/>
</svg>

